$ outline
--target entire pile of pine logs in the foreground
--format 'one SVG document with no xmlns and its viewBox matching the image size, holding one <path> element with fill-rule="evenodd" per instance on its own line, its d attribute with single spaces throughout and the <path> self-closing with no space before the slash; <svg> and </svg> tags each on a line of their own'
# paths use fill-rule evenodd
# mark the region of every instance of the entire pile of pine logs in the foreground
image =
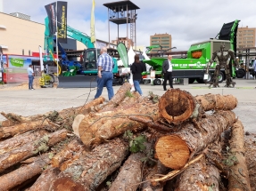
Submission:
<svg viewBox="0 0 256 191">
<path fill-rule="evenodd" d="M 251 190 L 234 96 L 130 88 L 45 115 L 2 112 L 0 191 Z"/>
</svg>

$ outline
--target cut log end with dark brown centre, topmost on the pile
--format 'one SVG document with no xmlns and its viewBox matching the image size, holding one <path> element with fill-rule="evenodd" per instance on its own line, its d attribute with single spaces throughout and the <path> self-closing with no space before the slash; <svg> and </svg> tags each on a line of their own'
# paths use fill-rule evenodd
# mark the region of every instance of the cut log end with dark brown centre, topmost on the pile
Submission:
<svg viewBox="0 0 256 191">
<path fill-rule="evenodd" d="M 196 101 L 189 92 L 169 89 L 161 96 L 159 111 L 169 123 L 182 122 L 193 114 L 195 105 Z"/>
</svg>

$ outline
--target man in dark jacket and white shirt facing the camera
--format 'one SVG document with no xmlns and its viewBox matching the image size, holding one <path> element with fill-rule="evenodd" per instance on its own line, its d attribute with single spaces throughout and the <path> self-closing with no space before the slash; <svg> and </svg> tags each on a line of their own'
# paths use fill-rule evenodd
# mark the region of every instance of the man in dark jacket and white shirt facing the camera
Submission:
<svg viewBox="0 0 256 191">
<path fill-rule="evenodd" d="M 173 88 L 172 85 L 172 63 L 171 63 L 172 56 L 168 55 L 168 59 L 164 60 L 162 63 L 162 71 L 163 74 L 163 90 L 166 91 L 166 84 L 167 80 L 169 80 L 169 87 Z"/>
</svg>

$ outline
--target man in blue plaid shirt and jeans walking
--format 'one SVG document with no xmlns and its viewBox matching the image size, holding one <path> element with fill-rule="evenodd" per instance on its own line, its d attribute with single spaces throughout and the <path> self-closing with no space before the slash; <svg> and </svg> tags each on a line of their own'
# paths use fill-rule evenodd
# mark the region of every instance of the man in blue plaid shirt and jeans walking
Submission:
<svg viewBox="0 0 256 191">
<path fill-rule="evenodd" d="M 99 98 L 103 93 L 103 87 L 106 86 L 108 91 L 109 100 L 114 96 L 112 87 L 113 83 L 113 60 L 109 54 L 107 54 L 107 48 L 101 48 L 101 55 L 97 61 L 98 76 L 97 76 L 97 92 L 95 99 Z"/>
</svg>

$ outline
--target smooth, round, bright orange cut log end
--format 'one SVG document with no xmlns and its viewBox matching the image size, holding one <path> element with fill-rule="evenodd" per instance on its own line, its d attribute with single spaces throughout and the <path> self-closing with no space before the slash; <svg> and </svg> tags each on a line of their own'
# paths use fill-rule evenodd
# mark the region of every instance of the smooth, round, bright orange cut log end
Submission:
<svg viewBox="0 0 256 191">
<path fill-rule="evenodd" d="M 174 170 L 181 169 L 190 155 L 186 142 L 176 135 L 161 137 L 155 145 L 155 152 L 163 165 Z"/>
</svg>

